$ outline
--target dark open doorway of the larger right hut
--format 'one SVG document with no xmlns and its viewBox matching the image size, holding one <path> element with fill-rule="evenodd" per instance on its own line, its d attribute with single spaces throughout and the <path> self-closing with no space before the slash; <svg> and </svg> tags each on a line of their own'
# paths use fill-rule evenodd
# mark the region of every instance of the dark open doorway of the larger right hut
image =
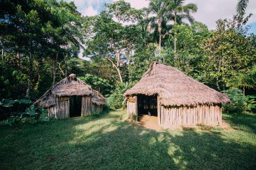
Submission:
<svg viewBox="0 0 256 170">
<path fill-rule="evenodd" d="M 144 116 L 155 116 L 157 117 L 157 95 L 155 96 L 146 96 L 138 95 L 137 96 L 137 108 L 138 108 L 138 121 L 140 121 Z"/>
</svg>

